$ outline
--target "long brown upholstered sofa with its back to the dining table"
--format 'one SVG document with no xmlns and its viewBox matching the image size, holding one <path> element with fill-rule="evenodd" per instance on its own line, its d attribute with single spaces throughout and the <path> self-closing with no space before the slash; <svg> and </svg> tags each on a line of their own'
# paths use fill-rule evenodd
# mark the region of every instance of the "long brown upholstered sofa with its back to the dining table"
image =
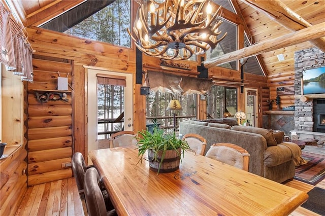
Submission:
<svg viewBox="0 0 325 216">
<path fill-rule="evenodd" d="M 218 142 L 241 146 L 250 154 L 249 172 L 279 183 L 292 179 L 295 166 L 303 162 L 296 143 L 283 142 L 284 134 L 264 128 L 189 120 L 180 123 L 179 133 L 196 133 L 206 138 L 206 152 Z"/>
</svg>

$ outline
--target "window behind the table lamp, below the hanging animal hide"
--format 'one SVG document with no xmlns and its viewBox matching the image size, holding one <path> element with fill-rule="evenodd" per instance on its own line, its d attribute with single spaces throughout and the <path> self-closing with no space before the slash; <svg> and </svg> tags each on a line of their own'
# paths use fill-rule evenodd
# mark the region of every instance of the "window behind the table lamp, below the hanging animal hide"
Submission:
<svg viewBox="0 0 325 216">
<path fill-rule="evenodd" d="M 171 99 L 178 99 L 181 103 L 181 111 L 167 111 L 167 106 Z M 147 95 L 147 125 L 155 121 L 161 128 L 173 127 L 173 112 L 176 113 L 176 122 L 196 118 L 197 115 L 197 94 L 173 95 L 167 92 L 151 91 Z M 182 117 L 182 118 L 178 118 Z M 179 119 L 179 120 L 178 120 Z M 176 124 L 177 127 L 178 124 Z"/>
</svg>

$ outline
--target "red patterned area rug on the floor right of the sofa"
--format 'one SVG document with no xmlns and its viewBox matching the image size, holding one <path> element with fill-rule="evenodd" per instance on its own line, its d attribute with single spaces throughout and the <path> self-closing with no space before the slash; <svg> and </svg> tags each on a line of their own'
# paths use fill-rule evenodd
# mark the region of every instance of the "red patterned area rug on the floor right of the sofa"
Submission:
<svg viewBox="0 0 325 216">
<path fill-rule="evenodd" d="M 294 178 L 310 185 L 317 185 L 325 178 L 325 156 L 303 152 L 302 157 L 308 162 L 296 167 Z"/>
</svg>

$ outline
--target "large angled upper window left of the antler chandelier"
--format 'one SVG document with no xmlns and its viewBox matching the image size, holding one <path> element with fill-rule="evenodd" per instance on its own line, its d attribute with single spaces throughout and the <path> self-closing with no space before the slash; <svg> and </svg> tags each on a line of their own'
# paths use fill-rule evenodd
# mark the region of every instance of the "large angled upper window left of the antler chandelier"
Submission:
<svg viewBox="0 0 325 216">
<path fill-rule="evenodd" d="M 131 1 L 85 1 L 40 26 L 77 37 L 131 47 Z"/>
</svg>

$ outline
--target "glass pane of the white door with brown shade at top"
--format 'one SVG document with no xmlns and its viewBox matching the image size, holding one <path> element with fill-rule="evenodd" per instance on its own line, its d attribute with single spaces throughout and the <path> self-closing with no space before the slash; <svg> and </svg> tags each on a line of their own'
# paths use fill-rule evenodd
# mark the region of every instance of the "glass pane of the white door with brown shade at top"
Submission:
<svg viewBox="0 0 325 216">
<path fill-rule="evenodd" d="M 97 75 L 98 139 L 108 139 L 111 133 L 123 128 L 125 80 L 125 77 Z"/>
</svg>

